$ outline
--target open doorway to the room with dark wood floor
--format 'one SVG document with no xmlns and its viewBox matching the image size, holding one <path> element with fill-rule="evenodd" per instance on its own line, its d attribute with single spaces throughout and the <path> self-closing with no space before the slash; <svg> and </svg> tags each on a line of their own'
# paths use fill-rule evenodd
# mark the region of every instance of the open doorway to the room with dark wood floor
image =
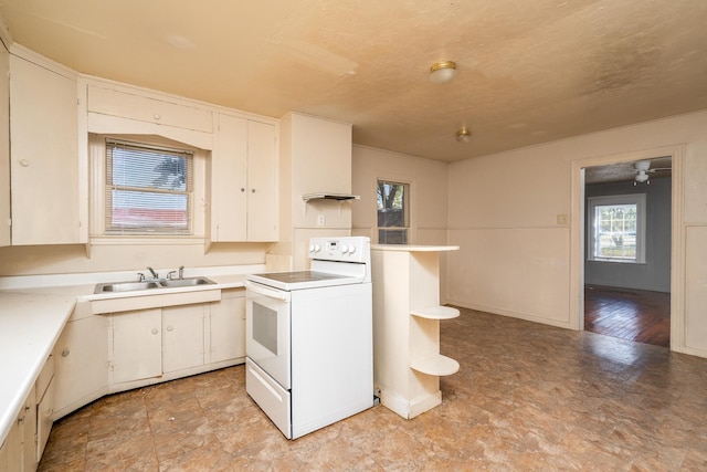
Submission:
<svg viewBox="0 0 707 472">
<path fill-rule="evenodd" d="M 580 329 L 669 347 L 672 157 L 583 168 Z"/>
</svg>

